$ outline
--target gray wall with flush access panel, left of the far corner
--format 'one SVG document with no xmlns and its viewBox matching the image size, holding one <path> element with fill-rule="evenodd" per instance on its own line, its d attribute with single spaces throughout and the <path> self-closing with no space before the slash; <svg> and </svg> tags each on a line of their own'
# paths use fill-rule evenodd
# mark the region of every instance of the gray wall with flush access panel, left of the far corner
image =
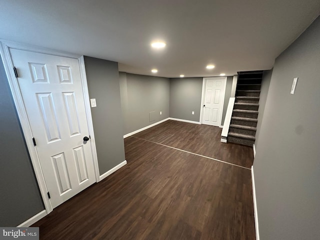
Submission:
<svg viewBox="0 0 320 240">
<path fill-rule="evenodd" d="M 124 118 L 123 134 L 169 117 L 168 78 L 120 72 L 119 80 Z"/>
</svg>

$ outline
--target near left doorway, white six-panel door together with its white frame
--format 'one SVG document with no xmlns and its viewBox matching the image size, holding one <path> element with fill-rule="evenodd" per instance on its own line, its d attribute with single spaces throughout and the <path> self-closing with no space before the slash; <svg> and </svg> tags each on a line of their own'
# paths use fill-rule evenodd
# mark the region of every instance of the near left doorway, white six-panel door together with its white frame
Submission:
<svg viewBox="0 0 320 240">
<path fill-rule="evenodd" d="M 1 53 L 49 213 L 99 176 L 83 59 L 3 42 Z"/>
</svg>

